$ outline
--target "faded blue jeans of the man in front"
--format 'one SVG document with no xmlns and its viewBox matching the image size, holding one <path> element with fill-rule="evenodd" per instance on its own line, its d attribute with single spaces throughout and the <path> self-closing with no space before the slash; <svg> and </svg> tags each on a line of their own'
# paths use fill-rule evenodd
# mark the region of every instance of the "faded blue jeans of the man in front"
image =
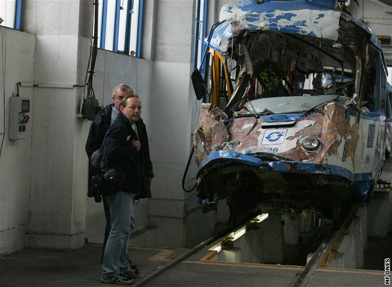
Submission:
<svg viewBox="0 0 392 287">
<path fill-rule="evenodd" d="M 135 194 L 118 191 L 105 196 L 110 209 L 112 226 L 102 262 L 102 275 L 116 276 L 130 270 L 128 264 L 128 239 L 135 226 L 133 198 Z"/>
</svg>

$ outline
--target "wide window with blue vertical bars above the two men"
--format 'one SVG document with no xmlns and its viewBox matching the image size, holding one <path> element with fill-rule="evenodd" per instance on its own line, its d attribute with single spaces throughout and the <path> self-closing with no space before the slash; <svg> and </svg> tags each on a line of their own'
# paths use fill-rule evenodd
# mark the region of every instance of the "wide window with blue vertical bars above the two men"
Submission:
<svg viewBox="0 0 392 287">
<path fill-rule="evenodd" d="M 144 0 L 99 0 L 98 48 L 140 57 Z"/>
</svg>

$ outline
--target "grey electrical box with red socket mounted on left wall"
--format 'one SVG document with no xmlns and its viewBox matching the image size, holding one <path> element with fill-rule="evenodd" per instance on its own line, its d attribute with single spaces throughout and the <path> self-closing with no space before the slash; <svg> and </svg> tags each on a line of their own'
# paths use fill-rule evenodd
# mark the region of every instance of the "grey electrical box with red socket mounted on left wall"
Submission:
<svg viewBox="0 0 392 287">
<path fill-rule="evenodd" d="M 22 97 L 9 98 L 9 139 L 23 139 L 26 134 L 26 124 L 30 117 L 30 100 Z"/>
</svg>

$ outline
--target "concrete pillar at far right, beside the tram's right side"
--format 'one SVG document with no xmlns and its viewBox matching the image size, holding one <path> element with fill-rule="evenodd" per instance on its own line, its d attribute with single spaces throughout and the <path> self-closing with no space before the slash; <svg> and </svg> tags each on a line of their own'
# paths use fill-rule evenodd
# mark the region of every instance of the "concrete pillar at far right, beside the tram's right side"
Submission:
<svg viewBox="0 0 392 287">
<path fill-rule="evenodd" d="M 376 188 L 367 206 L 368 236 L 388 236 L 390 192 Z"/>
</svg>

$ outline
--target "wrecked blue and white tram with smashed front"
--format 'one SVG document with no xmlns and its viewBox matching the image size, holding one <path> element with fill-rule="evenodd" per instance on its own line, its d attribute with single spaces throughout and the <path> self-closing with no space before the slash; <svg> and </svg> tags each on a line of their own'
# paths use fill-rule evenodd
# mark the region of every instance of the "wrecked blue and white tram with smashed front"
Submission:
<svg viewBox="0 0 392 287">
<path fill-rule="evenodd" d="M 316 209 L 340 220 L 366 201 L 386 153 L 387 68 L 345 1 L 224 5 L 192 80 L 197 196 L 249 211 Z"/>
</svg>

